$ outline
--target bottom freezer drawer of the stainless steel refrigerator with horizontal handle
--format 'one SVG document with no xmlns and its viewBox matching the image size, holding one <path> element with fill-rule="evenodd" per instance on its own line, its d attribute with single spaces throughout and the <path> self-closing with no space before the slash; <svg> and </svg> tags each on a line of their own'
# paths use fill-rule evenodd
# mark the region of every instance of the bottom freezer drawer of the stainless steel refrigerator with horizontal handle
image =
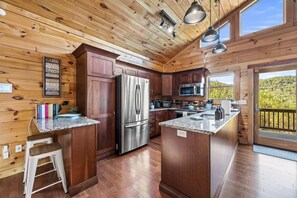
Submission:
<svg viewBox="0 0 297 198">
<path fill-rule="evenodd" d="M 146 145 L 149 141 L 149 122 L 122 125 L 120 141 L 120 155 Z"/>
</svg>

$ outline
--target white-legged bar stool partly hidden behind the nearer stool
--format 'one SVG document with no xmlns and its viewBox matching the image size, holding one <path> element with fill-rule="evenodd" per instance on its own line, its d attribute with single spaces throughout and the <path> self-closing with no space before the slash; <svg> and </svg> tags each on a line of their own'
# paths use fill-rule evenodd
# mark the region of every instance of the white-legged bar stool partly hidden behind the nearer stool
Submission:
<svg viewBox="0 0 297 198">
<path fill-rule="evenodd" d="M 30 136 L 27 137 L 26 151 L 25 151 L 25 164 L 24 164 L 24 178 L 23 178 L 23 183 L 25 183 L 26 182 L 26 179 L 27 179 L 29 150 L 34 145 L 36 145 L 36 144 L 42 144 L 42 143 L 44 143 L 44 144 L 51 144 L 51 143 L 53 143 L 53 135 L 50 134 L 50 133 L 41 133 L 41 134 L 37 134 L 37 135 L 30 135 Z M 48 164 L 48 163 L 53 163 L 54 169 L 53 170 L 50 170 L 50 171 L 47 171 L 45 173 L 42 173 L 40 175 L 37 175 L 37 177 L 56 170 L 55 163 L 54 163 L 54 160 L 52 159 L 52 157 L 50 158 L 50 162 L 41 164 L 39 166 L 43 166 L 43 165 Z"/>
</svg>

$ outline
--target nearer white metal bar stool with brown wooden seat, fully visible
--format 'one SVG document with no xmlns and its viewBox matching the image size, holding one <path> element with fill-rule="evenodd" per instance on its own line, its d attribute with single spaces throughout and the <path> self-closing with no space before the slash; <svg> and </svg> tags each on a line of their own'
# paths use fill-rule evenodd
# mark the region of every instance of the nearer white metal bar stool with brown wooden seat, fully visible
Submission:
<svg viewBox="0 0 297 198">
<path fill-rule="evenodd" d="M 59 180 L 57 182 L 54 182 L 52 184 L 49 184 L 38 190 L 33 191 L 33 185 L 34 185 L 38 160 L 46 157 L 53 157 L 54 163 L 56 164 Z M 28 176 L 25 183 L 26 198 L 30 198 L 32 194 L 58 183 L 62 183 L 64 192 L 67 193 L 68 190 L 66 185 L 66 177 L 65 177 L 61 145 L 59 143 L 51 143 L 51 144 L 44 144 L 41 146 L 34 146 L 30 148 L 29 158 L 28 158 Z"/>
</svg>

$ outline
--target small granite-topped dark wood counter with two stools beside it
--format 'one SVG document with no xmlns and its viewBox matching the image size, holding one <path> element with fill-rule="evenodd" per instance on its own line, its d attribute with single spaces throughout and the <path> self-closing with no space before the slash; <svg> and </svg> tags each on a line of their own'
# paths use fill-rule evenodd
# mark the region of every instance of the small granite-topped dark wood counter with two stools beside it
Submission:
<svg viewBox="0 0 297 198">
<path fill-rule="evenodd" d="M 53 133 L 63 150 L 68 192 L 74 196 L 98 183 L 96 125 L 86 117 L 34 119 L 40 133 Z"/>
</svg>

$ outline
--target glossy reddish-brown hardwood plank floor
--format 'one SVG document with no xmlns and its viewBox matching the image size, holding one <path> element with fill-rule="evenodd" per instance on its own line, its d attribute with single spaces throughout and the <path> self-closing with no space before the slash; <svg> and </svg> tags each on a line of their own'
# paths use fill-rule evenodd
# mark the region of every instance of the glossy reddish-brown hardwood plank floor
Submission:
<svg viewBox="0 0 297 198">
<path fill-rule="evenodd" d="M 123 156 L 112 156 L 97 163 L 99 183 L 75 198 L 86 197 L 162 197 L 160 181 L 160 138 L 149 146 Z M 36 185 L 56 178 L 38 178 Z M 23 197 L 22 174 L 0 180 L 0 197 Z M 33 198 L 69 197 L 61 185 L 38 192 Z M 220 198 L 296 198 L 297 162 L 252 152 L 239 145 Z"/>
</svg>

